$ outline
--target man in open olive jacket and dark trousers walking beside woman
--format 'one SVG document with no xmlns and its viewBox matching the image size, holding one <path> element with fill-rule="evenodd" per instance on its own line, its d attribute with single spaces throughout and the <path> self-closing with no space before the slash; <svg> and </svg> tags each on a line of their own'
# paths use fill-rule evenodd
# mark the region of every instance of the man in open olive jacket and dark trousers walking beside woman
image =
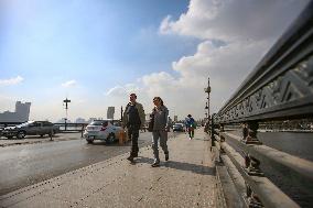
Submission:
<svg viewBox="0 0 313 208">
<path fill-rule="evenodd" d="M 136 101 L 136 94 L 130 94 L 129 100 L 130 102 L 126 106 L 123 112 L 122 124 L 125 128 L 127 128 L 128 138 L 131 140 L 131 151 L 127 160 L 133 163 L 133 158 L 138 156 L 139 152 L 139 130 L 144 125 L 145 116 L 142 105 Z"/>
</svg>

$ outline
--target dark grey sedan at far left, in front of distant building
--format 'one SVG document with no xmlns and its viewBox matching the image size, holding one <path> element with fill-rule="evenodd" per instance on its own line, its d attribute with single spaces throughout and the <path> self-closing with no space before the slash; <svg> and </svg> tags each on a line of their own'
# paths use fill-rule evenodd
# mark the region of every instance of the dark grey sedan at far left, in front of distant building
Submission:
<svg viewBox="0 0 313 208">
<path fill-rule="evenodd" d="M 28 121 L 15 127 L 7 127 L 2 131 L 2 135 L 12 139 L 23 139 L 25 135 L 41 135 L 48 134 L 50 136 L 60 132 L 60 128 L 48 121 Z"/>
</svg>

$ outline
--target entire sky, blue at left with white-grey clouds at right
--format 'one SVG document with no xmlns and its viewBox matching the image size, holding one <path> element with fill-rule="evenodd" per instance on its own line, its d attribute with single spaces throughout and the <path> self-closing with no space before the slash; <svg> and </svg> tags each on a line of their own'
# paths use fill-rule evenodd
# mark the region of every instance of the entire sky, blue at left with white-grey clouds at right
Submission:
<svg viewBox="0 0 313 208">
<path fill-rule="evenodd" d="M 136 92 L 179 119 L 217 112 L 309 0 L 0 0 L 0 112 L 106 118 Z"/>
</svg>

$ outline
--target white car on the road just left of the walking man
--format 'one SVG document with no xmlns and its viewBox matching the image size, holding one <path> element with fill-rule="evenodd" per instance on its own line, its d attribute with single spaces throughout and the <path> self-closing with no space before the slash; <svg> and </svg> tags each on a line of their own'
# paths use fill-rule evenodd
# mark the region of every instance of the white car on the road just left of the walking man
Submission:
<svg viewBox="0 0 313 208">
<path fill-rule="evenodd" d="M 118 140 L 121 131 L 123 131 L 123 129 L 118 125 L 118 121 L 95 120 L 86 127 L 84 138 L 88 143 L 93 143 L 94 140 L 102 140 L 106 141 L 106 143 L 112 143 Z"/>
</svg>

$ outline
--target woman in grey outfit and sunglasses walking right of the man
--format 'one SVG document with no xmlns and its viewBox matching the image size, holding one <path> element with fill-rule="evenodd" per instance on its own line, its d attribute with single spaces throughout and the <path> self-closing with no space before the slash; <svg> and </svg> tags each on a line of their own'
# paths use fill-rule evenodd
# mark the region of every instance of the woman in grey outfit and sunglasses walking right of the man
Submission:
<svg viewBox="0 0 313 208">
<path fill-rule="evenodd" d="M 153 130 L 152 130 L 152 150 L 154 155 L 154 162 L 152 167 L 160 166 L 159 147 L 158 142 L 160 140 L 160 146 L 165 154 L 165 161 L 169 161 L 169 149 L 168 149 L 168 132 L 169 132 L 169 110 L 164 106 L 163 100 L 160 97 L 153 98 L 154 108 L 151 117 L 154 118 Z"/>
</svg>

